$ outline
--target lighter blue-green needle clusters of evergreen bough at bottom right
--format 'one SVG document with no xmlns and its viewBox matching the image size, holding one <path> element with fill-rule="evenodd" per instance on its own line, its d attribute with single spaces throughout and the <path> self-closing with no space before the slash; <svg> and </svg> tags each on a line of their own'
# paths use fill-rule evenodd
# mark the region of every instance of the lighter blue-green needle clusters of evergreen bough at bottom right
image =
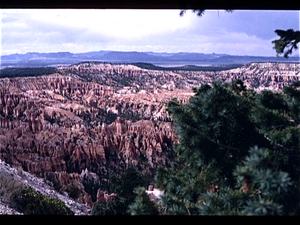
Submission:
<svg viewBox="0 0 300 225">
<path fill-rule="evenodd" d="M 291 205 L 297 207 L 299 204 L 297 201 L 294 202 L 296 204 L 290 202 L 292 183 L 289 174 L 279 170 L 276 157 L 270 150 L 255 146 L 249 152 L 244 164 L 234 172 L 239 186 L 246 184 L 252 192 L 251 197 L 245 201 L 243 212 L 249 215 L 289 214 Z"/>
</svg>

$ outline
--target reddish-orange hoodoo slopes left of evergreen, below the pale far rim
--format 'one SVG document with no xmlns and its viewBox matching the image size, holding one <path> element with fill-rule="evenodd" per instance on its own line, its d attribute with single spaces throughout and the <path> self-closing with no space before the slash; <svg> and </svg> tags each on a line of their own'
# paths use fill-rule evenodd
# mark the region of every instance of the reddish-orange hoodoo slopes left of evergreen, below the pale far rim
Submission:
<svg viewBox="0 0 300 225">
<path fill-rule="evenodd" d="M 37 176 L 55 173 L 63 186 L 86 169 L 100 180 L 130 165 L 150 173 L 169 162 L 176 137 L 164 103 L 137 96 L 76 76 L 1 79 L 0 158 Z M 92 204 L 86 193 L 80 199 Z"/>
</svg>

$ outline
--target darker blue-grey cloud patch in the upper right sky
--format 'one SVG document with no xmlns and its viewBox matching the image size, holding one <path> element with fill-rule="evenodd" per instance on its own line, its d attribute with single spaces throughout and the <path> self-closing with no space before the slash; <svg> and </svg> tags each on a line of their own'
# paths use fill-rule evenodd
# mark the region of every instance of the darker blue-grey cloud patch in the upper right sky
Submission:
<svg viewBox="0 0 300 225">
<path fill-rule="evenodd" d="M 203 17 L 193 20 L 192 31 L 213 35 L 220 30 L 246 33 L 270 39 L 276 29 L 299 30 L 299 11 L 284 10 L 207 10 Z"/>
</svg>

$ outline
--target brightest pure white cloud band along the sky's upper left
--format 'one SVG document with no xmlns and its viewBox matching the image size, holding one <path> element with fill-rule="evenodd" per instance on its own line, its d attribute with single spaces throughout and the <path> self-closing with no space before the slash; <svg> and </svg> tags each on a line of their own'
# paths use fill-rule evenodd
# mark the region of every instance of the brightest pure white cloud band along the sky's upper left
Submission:
<svg viewBox="0 0 300 225">
<path fill-rule="evenodd" d="M 46 30 L 47 26 L 52 29 L 53 26 L 58 26 L 67 29 L 85 29 L 114 38 L 128 39 L 174 32 L 190 24 L 189 16 L 180 17 L 178 10 L 24 9 L 2 11 L 6 17 L 13 15 L 20 18 L 7 25 L 11 29 L 28 28 L 26 22 L 29 22 L 32 29 Z"/>
</svg>

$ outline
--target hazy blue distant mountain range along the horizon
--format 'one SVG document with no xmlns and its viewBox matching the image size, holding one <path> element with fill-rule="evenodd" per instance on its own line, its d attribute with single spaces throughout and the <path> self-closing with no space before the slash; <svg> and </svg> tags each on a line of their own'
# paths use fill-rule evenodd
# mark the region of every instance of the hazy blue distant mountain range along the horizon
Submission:
<svg viewBox="0 0 300 225">
<path fill-rule="evenodd" d="M 151 63 L 157 66 L 184 65 L 229 65 L 247 64 L 250 62 L 299 62 L 299 57 L 264 57 L 264 56 L 236 56 L 227 54 L 204 53 L 155 53 L 155 52 L 121 52 L 121 51 L 93 51 L 86 53 L 53 52 L 26 54 L 11 54 L 1 56 L 1 67 L 30 67 L 55 66 L 74 64 L 83 61 L 104 61 L 112 63 Z"/>
</svg>

